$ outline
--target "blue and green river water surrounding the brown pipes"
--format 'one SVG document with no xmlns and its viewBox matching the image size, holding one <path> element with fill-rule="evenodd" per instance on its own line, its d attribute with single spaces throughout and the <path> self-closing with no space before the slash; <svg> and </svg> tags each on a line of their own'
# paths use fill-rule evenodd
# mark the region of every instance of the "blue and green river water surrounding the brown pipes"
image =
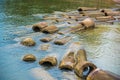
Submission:
<svg viewBox="0 0 120 80">
<path fill-rule="evenodd" d="M 57 46 L 51 42 L 49 50 L 41 51 L 39 46 L 44 43 L 39 39 L 46 34 L 34 33 L 30 25 L 42 21 L 44 15 L 51 15 L 54 11 L 75 10 L 78 6 L 84 5 L 87 3 L 79 0 L 0 0 L 0 80 L 40 80 L 32 75 L 31 70 L 36 68 L 47 71 L 57 80 L 75 79 L 74 72 L 64 72 L 58 67 L 44 68 L 38 64 L 46 55 L 55 55 L 59 62 L 70 42 L 64 46 Z M 110 7 L 110 5 L 111 3 L 107 6 L 104 3 L 97 6 Z M 84 45 L 89 61 L 99 68 L 120 74 L 119 24 L 99 26 L 94 30 L 78 34 L 73 34 L 75 36 L 73 41 L 80 41 Z M 32 37 L 37 45 L 22 46 L 20 41 L 25 37 Z M 22 57 L 27 53 L 34 54 L 37 61 L 23 62 Z"/>
</svg>

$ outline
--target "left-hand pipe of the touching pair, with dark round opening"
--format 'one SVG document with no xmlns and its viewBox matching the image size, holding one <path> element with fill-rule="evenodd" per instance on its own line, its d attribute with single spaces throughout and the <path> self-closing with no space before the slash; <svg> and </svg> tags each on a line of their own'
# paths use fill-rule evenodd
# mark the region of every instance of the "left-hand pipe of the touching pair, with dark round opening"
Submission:
<svg viewBox="0 0 120 80">
<path fill-rule="evenodd" d="M 32 29 L 35 32 L 40 32 L 43 28 L 47 27 L 48 24 L 46 22 L 39 22 L 33 25 Z"/>
</svg>

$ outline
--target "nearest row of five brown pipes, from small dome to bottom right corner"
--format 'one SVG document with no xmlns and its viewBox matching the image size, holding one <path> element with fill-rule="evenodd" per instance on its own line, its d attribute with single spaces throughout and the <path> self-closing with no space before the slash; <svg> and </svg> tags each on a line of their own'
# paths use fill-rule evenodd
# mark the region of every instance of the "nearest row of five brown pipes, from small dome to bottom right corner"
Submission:
<svg viewBox="0 0 120 80">
<path fill-rule="evenodd" d="M 28 54 L 24 56 L 24 61 L 35 61 L 34 55 Z M 57 58 L 46 56 L 39 61 L 41 65 L 56 66 Z M 86 51 L 81 47 L 80 42 L 73 42 L 65 56 L 59 63 L 60 69 L 74 70 L 75 74 L 86 80 L 120 80 L 120 76 L 112 72 L 104 71 L 97 68 L 95 64 L 87 60 Z"/>
</svg>

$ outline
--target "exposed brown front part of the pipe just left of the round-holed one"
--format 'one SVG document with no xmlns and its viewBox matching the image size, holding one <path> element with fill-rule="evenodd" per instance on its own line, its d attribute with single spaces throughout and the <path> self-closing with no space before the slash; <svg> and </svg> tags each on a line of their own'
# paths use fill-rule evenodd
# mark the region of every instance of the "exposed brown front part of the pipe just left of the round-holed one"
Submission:
<svg viewBox="0 0 120 80">
<path fill-rule="evenodd" d="M 72 70 L 75 64 L 74 52 L 69 52 L 60 62 L 60 69 Z"/>
</svg>

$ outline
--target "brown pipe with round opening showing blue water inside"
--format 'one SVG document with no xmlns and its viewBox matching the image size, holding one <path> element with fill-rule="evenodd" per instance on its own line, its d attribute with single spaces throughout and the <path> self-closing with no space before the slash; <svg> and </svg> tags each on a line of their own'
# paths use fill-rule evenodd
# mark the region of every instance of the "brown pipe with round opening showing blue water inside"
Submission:
<svg viewBox="0 0 120 80">
<path fill-rule="evenodd" d="M 97 68 L 93 63 L 87 61 L 86 52 L 83 49 L 77 52 L 75 59 L 74 72 L 80 78 L 86 78 L 92 70 Z"/>
</svg>

